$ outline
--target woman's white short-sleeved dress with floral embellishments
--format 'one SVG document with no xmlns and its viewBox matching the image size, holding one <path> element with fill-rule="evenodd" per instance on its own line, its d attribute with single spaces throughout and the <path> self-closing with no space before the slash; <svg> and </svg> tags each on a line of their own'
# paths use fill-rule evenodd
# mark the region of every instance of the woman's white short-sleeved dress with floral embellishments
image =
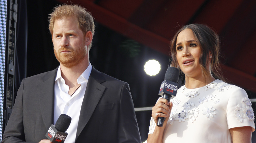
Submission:
<svg viewBox="0 0 256 143">
<path fill-rule="evenodd" d="M 245 90 L 221 80 L 195 89 L 182 86 L 171 101 L 163 143 L 232 143 L 230 128 L 251 126 L 255 130 Z M 149 134 L 155 126 L 151 118 Z"/>
</svg>

